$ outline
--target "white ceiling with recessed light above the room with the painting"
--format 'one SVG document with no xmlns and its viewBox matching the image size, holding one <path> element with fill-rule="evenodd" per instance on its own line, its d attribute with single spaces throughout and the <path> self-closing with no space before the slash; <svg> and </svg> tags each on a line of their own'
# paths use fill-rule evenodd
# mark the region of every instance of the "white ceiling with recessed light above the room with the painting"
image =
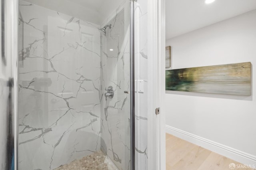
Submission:
<svg viewBox="0 0 256 170">
<path fill-rule="evenodd" d="M 256 0 L 166 0 L 166 39 L 256 9 Z"/>
</svg>

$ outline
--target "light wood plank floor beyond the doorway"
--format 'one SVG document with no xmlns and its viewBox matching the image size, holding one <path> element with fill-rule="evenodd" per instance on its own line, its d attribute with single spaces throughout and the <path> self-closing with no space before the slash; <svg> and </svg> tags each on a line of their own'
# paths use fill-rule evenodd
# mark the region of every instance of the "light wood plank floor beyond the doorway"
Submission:
<svg viewBox="0 0 256 170">
<path fill-rule="evenodd" d="M 234 163 L 238 168 L 229 168 Z M 166 133 L 166 170 L 253 170 L 210 150 Z"/>
</svg>

